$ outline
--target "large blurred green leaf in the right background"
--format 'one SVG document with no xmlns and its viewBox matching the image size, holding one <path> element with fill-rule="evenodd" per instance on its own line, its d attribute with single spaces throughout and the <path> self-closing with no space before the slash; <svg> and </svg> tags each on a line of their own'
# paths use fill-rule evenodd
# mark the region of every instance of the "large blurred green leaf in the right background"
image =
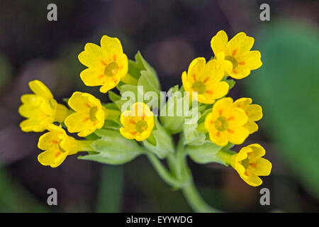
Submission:
<svg viewBox="0 0 319 227">
<path fill-rule="evenodd" d="M 247 92 L 291 172 L 319 199 L 319 38 L 314 26 L 281 22 L 259 33 L 263 65 Z"/>
</svg>

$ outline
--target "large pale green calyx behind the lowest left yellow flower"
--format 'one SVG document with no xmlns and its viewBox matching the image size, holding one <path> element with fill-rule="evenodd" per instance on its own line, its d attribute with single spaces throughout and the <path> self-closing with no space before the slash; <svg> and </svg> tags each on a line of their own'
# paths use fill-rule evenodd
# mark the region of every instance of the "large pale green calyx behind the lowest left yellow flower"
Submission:
<svg viewBox="0 0 319 227">
<path fill-rule="evenodd" d="M 80 156 L 79 159 L 121 165 L 142 154 L 142 148 L 138 143 L 124 138 L 119 131 L 100 129 L 95 131 L 95 134 L 101 137 L 91 144 L 96 153 Z"/>
</svg>

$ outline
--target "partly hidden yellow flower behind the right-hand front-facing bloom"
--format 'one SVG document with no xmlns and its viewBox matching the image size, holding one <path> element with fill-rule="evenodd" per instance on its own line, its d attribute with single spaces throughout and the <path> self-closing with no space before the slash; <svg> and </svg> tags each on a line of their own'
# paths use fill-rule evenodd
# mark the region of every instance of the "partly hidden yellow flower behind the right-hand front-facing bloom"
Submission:
<svg viewBox="0 0 319 227">
<path fill-rule="evenodd" d="M 248 116 L 245 128 L 250 131 L 250 134 L 258 130 L 258 125 L 257 123 L 254 123 L 254 121 L 259 121 L 262 118 L 262 106 L 251 103 L 252 99 L 250 98 L 241 98 L 234 101 L 234 106 L 245 111 Z"/>
</svg>

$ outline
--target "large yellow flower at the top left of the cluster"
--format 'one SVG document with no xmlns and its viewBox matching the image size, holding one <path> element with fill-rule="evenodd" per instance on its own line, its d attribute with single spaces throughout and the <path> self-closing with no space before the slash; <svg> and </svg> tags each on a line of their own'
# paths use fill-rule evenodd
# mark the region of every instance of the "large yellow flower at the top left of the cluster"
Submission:
<svg viewBox="0 0 319 227">
<path fill-rule="evenodd" d="M 101 47 L 86 43 L 79 54 L 79 61 L 88 67 L 80 77 L 86 86 L 102 86 L 100 92 L 106 93 L 118 85 L 128 72 L 128 57 L 123 53 L 118 38 L 103 35 Z"/>
</svg>

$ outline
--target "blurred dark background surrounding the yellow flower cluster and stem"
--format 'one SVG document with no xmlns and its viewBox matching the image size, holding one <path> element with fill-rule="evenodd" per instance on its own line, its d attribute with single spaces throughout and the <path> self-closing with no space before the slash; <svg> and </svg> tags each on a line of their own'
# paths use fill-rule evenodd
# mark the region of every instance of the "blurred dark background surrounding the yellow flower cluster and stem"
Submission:
<svg viewBox="0 0 319 227">
<path fill-rule="evenodd" d="M 47 5 L 57 5 L 57 21 L 47 21 Z M 260 21 L 259 6 L 270 6 Z M 264 65 L 239 80 L 230 96 L 252 97 L 263 107 L 259 131 L 244 145 L 261 143 L 272 174 L 250 187 L 231 167 L 189 160 L 203 197 L 223 211 L 319 211 L 319 36 L 318 1 L 239 0 L 0 0 L 0 211 L 2 212 L 188 212 L 181 192 L 173 192 L 145 157 L 123 166 L 67 158 L 58 168 L 37 161 L 40 133 L 18 127 L 21 94 L 40 79 L 57 101 L 85 87 L 77 60 L 85 43 L 102 35 L 118 37 L 133 59 L 140 50 L 155 67 L 166 91 L 181 84 L 181 72 L 195 57 L 209 59 L 213 35 L 240 31 L 255 38 Z M 235 147 L 240 150 L 243 145 Z M 47 189 L 58 206 L 47 206 Z M 271 205 L 259 204 L 267 187 Z"/>
</svg>

